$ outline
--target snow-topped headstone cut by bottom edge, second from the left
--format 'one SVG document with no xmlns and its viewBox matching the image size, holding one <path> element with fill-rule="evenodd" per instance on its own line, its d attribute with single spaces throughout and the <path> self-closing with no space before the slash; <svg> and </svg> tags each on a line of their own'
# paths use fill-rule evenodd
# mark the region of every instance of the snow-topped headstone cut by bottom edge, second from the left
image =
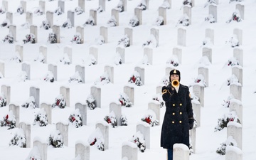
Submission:
<svg viewBox="0 0 256 160">
<path fill-rule="evenodd" d="M 75 157 L 80 156 L 80 160 L 90 160 L 90 146 L 85 142 L 75 142 Z"/>
</svg>

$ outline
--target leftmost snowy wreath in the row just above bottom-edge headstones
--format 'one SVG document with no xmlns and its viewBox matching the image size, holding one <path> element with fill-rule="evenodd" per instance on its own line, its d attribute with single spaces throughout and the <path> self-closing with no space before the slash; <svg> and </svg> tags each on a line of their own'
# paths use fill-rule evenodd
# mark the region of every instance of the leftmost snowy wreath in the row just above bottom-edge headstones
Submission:
<svg viewBox="0 0 256 160">
<path fill-rule="evenodd" d="M 14 134 L 14 137 L 9 142 L 9 146 L 19 146 L 21 148 L 26 148 L 26 136 L 23 129 L 18 129 Z"/>
</svg>

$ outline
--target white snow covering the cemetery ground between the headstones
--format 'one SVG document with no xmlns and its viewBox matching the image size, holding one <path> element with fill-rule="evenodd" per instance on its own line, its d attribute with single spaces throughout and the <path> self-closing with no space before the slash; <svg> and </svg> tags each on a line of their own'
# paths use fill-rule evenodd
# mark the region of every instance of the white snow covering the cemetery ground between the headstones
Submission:
<svg viewBox="0 0 256 160">
<path fill-rule="evenodd" d="M 0 7 L 3 0 L 0 0 Z M 48 43 L 48 34 L 51 29 L 45 30 L 40 28 L 42 21 L 46 19 L 46 14 L 33 14 L 33 24 L 38 26 L 38 43 L 23 44 L 23 39 L 29 33 L 27 26 L 22 27 L 25 23 L 26 14 L 17 14 L 16 9 L 19 1 L 9 0 L 9 10 L 14 13 L 14 23 L 17 26 L 17 41 L 14 44 L 7 42 L 0 43 L 0 60 L 4 62 L 5 73 L 4 78 L 0 79 L 0 86 L 11 86 L 11 103 L 15 105 L 23 104 L 29 98 L 29 88 L 37 86 L 40 88 L 41 102 L 53 104 L 55 97 L 60 94 L 61 86 L 70 87 L 70 106 L 60 109 L 55 107 L 52 110 L 52 124 L 46 127 L 38 127 L 31 125 L 31 146 L 33 140 L 43 139 L 47 142 L 50 132 L 55 129 L 57 122 L 66 122 L 71 112 L 75 110 L 75 104 L 81 102 L 85 104 L 85 100 L 90 95 L 90 87 L 104 73 L 106 65 L 114 66 L 114 83 L 98 85 L 101 87 L 101 108 L 95 110 L 87 109 L 87 125 L 68 129 L 68 146 L 55 149 L 48 146 L 48 160 L 71 160 L 75 158 L 75 143 L 77 141 L 88 142 L 90 135 L 95 132 L 95 124 L 103 120 L 105 115 L 109 113 L 110 102 L 116 102 L 119 94 L 123 92 L 124 86 L 134 87 L 134 104 L 132 107 L 122 107 L 122 114 L 127 117 L 127 126 L 109 127 L 109 149 L 100 151 L 97 147 L 90 146 L 90 159 L 117 160 L 122 159 L 122 144 L 129 141 L 136 134 L 136 125 L 141 122 L 141 117 L 148 110 L 148 103 L 152 100 L 152 95 L 156 94 L 156 87 L 162 84 L 164 80 L 166 61 L 172 57 L 173 48 L 182 49 L 182 63 L 176 67 L 181 71 L 181 84 L 190 85 L 198 76 L 198 67 L 207 65 L 209 70 L 209 86 L 204 90 L 204 107 L 201 107 L 201 127 L 196 128 L 196 150 L 191 154 L 191 160 L 224 160 L 225 156 L 216 154 L 216 149 L 221 143 L 227 139 L 227 129 L 214 132 L 218 119 L 229 111 L 226 105 L 223 105 L 230 96 L 230 86 L 226 85 L 226 80 L 230 78 L 233 66 L 228 65 L 228 60 L 236 62 L 233 58 L 234 48 L 243 50 L 243 84 L 242 84 L 242 100 L 243 119 L 242 119 L 242 156 L 243 159 L 255 159 L 256 156 L 256 128 L 253 117 L 256 113 L 255 102 L 255 78 L 256 78 L 256 2 L 255 0 L 244 0 L 245 19 L 239 23 L 231 21 L 226 23 L 236 11 L 235 5 L 238 2 L 229 3 L 228 0 L 219 0 L 218 6 L 218 22 L 210 23 L 205 21 L 208 16 L 208 7 L 206 0 L 196 0 L 195 6 L 192 8 L 192 24 L 191 26 L 176 26 L 178 20 L 183 16 L 182 1 L 172 0 L 171 9 L 166 11 L 167 25 L 154 26 L 158 17 L 158 8 L 163 4 L 162 0 L 150 0 L 149 10 L 143 11 L 142 26 L 132 28 L 129 26 L 129 20 L 134 16 L 134 8 L 139 4 L 139 0 L 127 1 L 128 11 L 119 14 L 119 26 L 108 28 L 108 43 L 101 43 L 100 26 L 107 25 L 107 20 L 111 18 L 111 9 L 119 4 L 119 0 L 106 1 L 106 11 L 98 14 L 97 26 L 85 26 L 84 44 L 72 43 L 72 38 L 76 34 L 76 28 L 60 28 L 60 43 Z M 74 10 L 78 6 L 78 0 L 65 0 L 65 10 Z M 90 9 L 97 9 L 99 6 L 97 0 L 85 1 L 85 13 L 75 14 L 75 26 L 83 26 L 89 17 Z M 58 1 L 46 1 L 46 11 L 55 11 L 58 7 Z M 33 11 L 38 7 L 38 0 L 28 0 L 27 10 Z M 0 14 L 0 23 L 4 22 L 6 14 Z M 62 26 L 67 21 L 67 13 L 60 16 L 54 15 L 56 25 Z M 212 21 L 212 19 L 210 20 Z M 115 65 L 114 57 L 118 41 L 124 37 L 124 28 L 133 29 L 133 44 L 125 48 L 125 63 Z M 152 65 L 142 65 L 144 60 L 144 48 L 142 46 L 148 38 L 150 38 L 151 28 L 159 29 L 159 46 L 153 48 Z M 177 29 L 186 29 L 186 47 L 177 46 Z M 206 28 L 214 29 L 214 43 L 203 46 L 205 40 Z M 235 45 L 233 30 L 235 28 L 242 29 L 242 45 L 239 47 L 231 47 Z M 9 34 L 9 28 L 0 28 L 0 41 Z M 19 55 L 17 55 L 15 46 L 23 46 L 23 61 L 31 65 L 31 80 L 24 81 L 24 75 L 21 74 L 21 63 L 16 63 Z M 40 46 L 47 46 L 48 56 L 47 64 L 58 65 L 58 80 L 55 82 L 46 82 L 41 78 L 48 73 L 48 65 L 34 61 L 41 57 L 39 52 Z M 73 48 L 73 63 L 63 65 L 60 58 L 63 58 L 65 46 Z M 94 58 L 89 54 L 90 47 L 96 47 L 99 55 L 97 65 L 92 65 Z M 203 47 L 212 48 L 212 63 L 202 59 Z M 14 58 L 14 60 L 11 60 Z M 75 65 L 85 66 L 85 84 L 70 83 L 70 77 L 75 74 Z M 136 86 L 129 84 L 129 78 L 134 74 L 135 66 L 143 66 L 145 70 L 145 84 Z M 20 76 L 18 76 L 20 75 Z M 191 95 L 192 95 L 192 88 Z M 2 91 L 2 89 L 0 89 Z M 233 101 L 232 98 L 230 102 Z M 193 102 L 197 102 L 194 100 Z M 39 111 L 36 109 L 20 108 L 20 122 L 29 122 L 33 124 L 34 115 Z M 161 107 L 160 124 L 163 122 L 165 107 Z M 0 120 L 9 113 L 9 107 L 0 107 Z M 110 124 L 107 124 L 110 125 Z M 0 127 L 0 159 L 17 159 L 23 160 L 28 157 L 32 148 L 21 149 L 17 146 L 9 146 L 10 140 L 13 138 L 16 129 L 8 129 L 8 127 Z M 166 149 L 160 147 L 161 125 L 150 128 L 151 148 L 146 149 L 144 153 L 138 150 L 138 160 L 141 159 L 166 159 Z"/>
</svg>

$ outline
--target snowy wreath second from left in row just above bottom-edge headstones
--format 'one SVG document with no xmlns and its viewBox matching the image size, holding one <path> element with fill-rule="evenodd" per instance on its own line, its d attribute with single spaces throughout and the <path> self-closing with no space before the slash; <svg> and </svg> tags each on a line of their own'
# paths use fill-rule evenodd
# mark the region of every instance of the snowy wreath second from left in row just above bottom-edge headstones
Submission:
<svg viewBox="0 0 256 160">
<path fill-rule="evenodd" d="M 50 133 L 50 137 L 48 140 L 48 145 L 53 146 L 54 148 L 62 148 L 63 147 L 63 137 L 60 134 L 59 130 L 55 130 Z"/>
</svg>

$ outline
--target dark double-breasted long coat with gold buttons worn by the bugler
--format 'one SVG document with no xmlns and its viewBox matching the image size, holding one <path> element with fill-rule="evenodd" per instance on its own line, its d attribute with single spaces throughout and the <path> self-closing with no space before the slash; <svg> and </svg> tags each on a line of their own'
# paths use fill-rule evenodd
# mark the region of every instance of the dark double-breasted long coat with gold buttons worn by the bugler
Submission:
<svg viewBox="0 0 256 160">
<path fill-rule="evenodd" d="M 174 90 L 173 95 L 163 95 L 163 100 L 166 112 L 161 128 L 161 147 L 173 149 L 176 143 L 189 147 L 188 118 L 193 117 L 193 110 L 188 87 L 180 84 L 178 92 Z"/>
</svg>

